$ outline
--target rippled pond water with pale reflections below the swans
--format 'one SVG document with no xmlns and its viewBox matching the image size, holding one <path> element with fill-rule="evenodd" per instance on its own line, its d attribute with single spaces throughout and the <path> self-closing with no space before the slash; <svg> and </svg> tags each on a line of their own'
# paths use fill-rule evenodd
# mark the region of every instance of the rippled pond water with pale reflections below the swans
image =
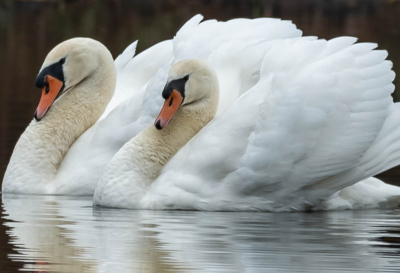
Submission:
<svg viewBox="0 0 400 273">
<path fill-rule="evenodd" d="M 0 272 L 398 272 L 400 210 L 223 213 L 3 195 Z"/>
</svg>

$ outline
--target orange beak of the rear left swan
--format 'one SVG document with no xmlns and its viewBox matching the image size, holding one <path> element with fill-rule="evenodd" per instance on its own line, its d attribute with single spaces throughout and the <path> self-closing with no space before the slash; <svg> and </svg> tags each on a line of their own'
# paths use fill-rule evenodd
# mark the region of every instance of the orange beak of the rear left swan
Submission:
<svg viewBox="0 0 400 273">
<path fill-rule="evenodd" d="M 64 85 L 62 81 L 50 75 L 46 76 L 45 82 L 46 84 L 42 89 L 42 97 L 40 98 L 39 105 L 35 112 L 37 121 L 41 120 L 46 115 Z"/>
</svg>

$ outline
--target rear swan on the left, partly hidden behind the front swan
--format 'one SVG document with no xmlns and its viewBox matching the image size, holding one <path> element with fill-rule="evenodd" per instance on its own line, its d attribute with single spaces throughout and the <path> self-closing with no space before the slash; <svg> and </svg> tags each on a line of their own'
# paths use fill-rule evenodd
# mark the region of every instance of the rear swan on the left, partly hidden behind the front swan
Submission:
<svg viewBox="0 0 400 273">
<path fill-rule="evenodd" d="M 254 49 L 260 41 L 301 36 L 294 24 L 279 19 L 202 19 L 194 16 L 173 40 L 134 57 L 135 41 L 114 63 L 107 48 L 91 39 L 75 38 L 56 46 L 39 71 L 36 85 L 43 95 L 36 119 L 15 146 L 2 191 L 92 196 L 115 153 L 157 116 L 162 104 L 158 92 L 172 64 L 211 58 L 221 72 L 218 76 L 229 77 L 224 75 L 225 60 L 235 55 L 229 47 L 253 43 Z M 246 61 L 248 71 L 257 63 Z M 229 92 L 239 92 L 255 80 L 242 78 L 243 86 Z M 233 103 L 232 97 L 220 100 L 221 111 Z"/>
</svg>

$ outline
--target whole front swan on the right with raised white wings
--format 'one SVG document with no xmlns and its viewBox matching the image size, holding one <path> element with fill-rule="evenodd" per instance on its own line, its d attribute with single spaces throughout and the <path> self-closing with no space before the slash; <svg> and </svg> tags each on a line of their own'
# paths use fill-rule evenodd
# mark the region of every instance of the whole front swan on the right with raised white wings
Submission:
<svg viewBox="0 0 400 273">
<path fill-rule="evenodd" d="M 242 79 L 219 78 L 212 58 L 175 63 L 159 91 L 164 105 L 154 125 L 115 154 L 94 205 L 209 211 L 398 206 L 400 188 L 371 178 L 400 164 L 395 74 L 386 51 L 355 42 L 302 37 L 262 44 L 261 56 L 241 51 L 236 57 L 242 60 L 261 59 L 258 73 L 252 66 L 252 73 L 243 68 L 237 74 L 257 75 L 242 92 L 224 90 Z M 225 69 L 235 65 L 243 63 L 233 60 Z M 226 95 L 234 103 L 221 112 L 218 99 Z"/>
</svg>

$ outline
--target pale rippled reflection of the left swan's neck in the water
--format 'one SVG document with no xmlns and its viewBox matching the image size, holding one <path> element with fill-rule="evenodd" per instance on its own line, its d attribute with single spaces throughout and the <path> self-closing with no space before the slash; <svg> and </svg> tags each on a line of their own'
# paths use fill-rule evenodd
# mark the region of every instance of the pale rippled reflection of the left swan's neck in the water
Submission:
<svg viewBox="0 0 400 273">
<path fill-rule="evenodd" d="M 63 200 L 56 197 L 3 198 L 5 212 L 12 220 L 4 223 L 9 228 L 10 243 L 18 253 L 8 254 L 13 261 L 24 262 L 23 268 L 51 272 L 87 272 L 93 269 L 93 262 L 76 257 L 82 250 L 71 244 L 67 226 L 75 221 L 64 217 L 62 208 L 79 208 L 86 201 Z M 3 242 L 5 243 L 5 242 Z M 3 243 L 1 244 L 3 246 Z"/>
</svg>

